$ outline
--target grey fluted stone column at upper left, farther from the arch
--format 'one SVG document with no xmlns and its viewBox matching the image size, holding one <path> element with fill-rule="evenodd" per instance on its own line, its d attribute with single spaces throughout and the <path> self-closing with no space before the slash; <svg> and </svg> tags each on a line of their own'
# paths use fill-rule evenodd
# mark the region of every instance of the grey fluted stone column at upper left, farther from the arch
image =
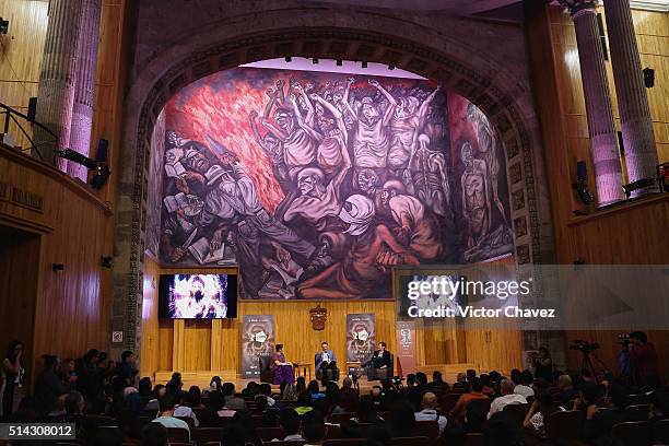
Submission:
<svg viewBox="0 0 669 446">
<path fill-rule="evenodd" d="M 58 136 L 58 143 L 54 146 L 52 138 L 38 128 L 33 139 L 44 161 L 54 163 L 61 171 L 67 171 L 68 163 L 56 157 L 54 150 L 66 149 L 70 144 L 82 4 L 80 0 L 50 0 L 49 23 L 39 68 L 35 119 Z M 33 155 L 38 156 L 36 153 Z"/>
</svg>

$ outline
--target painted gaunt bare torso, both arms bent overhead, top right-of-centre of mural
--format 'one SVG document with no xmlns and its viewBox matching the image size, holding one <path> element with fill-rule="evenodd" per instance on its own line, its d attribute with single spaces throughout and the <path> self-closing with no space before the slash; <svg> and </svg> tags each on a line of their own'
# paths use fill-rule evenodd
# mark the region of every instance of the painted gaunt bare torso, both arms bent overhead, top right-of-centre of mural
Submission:
<svg viewBox="0 0 669 446">
<path fill-rule="evenodd" d="M 380 105 L 375 103 L 372 97 L 366 96 L 361 101 L 360 108 L 354 109 L 349 104 L 349 93 L 351 85 L 355 80 L 347 81 L 347 90 L 344 92 L 343 102 L 347 105 L 349 113 L 356 119 L 356 128 L 353 136 L 353 163 L 356 168 L 386 168 L 388 161 L 388 149 L 390 140 L 388 138 L 387 127 L 392 117 L 397 102 L 390 93 L 388 93 L 375 80 L 369 80 L 369 85 L 377 89 L 388 99 L 389 105 L 385 111 L 382 111 Z"/>
</svg>

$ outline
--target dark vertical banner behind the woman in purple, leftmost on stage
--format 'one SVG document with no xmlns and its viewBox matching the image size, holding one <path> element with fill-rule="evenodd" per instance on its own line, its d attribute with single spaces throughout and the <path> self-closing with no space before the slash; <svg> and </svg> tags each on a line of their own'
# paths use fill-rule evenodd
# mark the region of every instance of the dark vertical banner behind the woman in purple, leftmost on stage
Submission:
<svg viewBox="0 0 669 446">
<path fill-rule="evenodd" d="M 259 356 L 274 353 L 274 317 L 270 315 L 244 315 L 242 319 L 242 377 L 260 377 Z"/>
</svg>

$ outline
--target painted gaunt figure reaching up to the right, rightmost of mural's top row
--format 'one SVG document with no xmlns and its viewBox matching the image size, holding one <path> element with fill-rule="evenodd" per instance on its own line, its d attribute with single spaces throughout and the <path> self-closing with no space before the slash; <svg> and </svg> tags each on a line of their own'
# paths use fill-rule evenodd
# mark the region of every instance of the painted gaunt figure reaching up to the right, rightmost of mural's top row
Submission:
<svg viewBox="0 0 669 446">
<path fill-rule="evenodd" d="M 409 166 L 409 159 L 415 151 L 419 131 L 425 124 L 427 109 L 439 92 L 437 86 L 422 103 L 413 95 L 397 99 L 397 107 L 390 120 L 390 150 L 388 151 L 388 167 L 401 177 L 402 171 Z"/>
</svg>

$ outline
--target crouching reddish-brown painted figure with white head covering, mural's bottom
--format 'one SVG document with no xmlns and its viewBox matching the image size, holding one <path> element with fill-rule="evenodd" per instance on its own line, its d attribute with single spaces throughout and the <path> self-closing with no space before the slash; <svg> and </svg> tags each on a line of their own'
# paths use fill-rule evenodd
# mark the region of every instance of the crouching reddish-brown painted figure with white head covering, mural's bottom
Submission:
<svg viewBox="0 0 669 446">
<path fill-rule="evenodd" d="M 353 237 L 350 253 L 339 262 L 298 285 L 303 298 L 361 298 L 378 290 L 396 265 L 419 265 L 418 258 L 400 245 L 390 230 L 373 225 L 374 202 L 362 195 L 347 198 L 339 218 L 349 224 Z"/>
</svg>

